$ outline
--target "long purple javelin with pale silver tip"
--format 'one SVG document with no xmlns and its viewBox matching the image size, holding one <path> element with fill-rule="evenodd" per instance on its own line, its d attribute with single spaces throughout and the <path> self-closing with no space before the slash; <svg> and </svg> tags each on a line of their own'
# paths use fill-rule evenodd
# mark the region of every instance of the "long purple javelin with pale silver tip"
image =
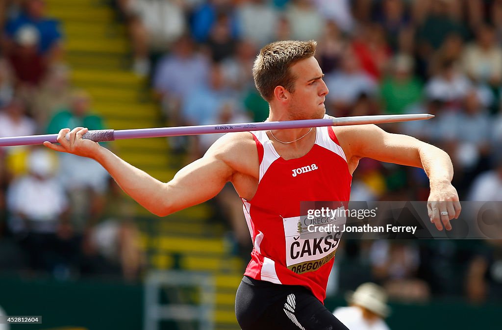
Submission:
<svg viewBox="0 0 502 330">
<path fill-rule="evenodd" d="M 134 130 L 94 130 L 85 133 L 82 138 L 94 142 L 106 142 L 123 139 L 158 138 L 181 135 L 215 134 L 248 131 L 266 131 L 282 129 L 298 129 L 307 127 L 323 126 L 347 126 L 364 124 L 384 124 L 419 121 L 433 118 L 429 114 L 416 115 L 380 115 L 380 116 L 354 116 L 327 119 L 308 119 L 299 121 L 283 122 L 263 122 L 263 123 L 241 123 L 223 125 L 200 125 L 200 126 L 180 126 L 180 127 L 159 127 L 149 129 Z M 45 141 L 57 143 L 57 134 L 18 136 L 0 138 L 0 147 L 28 146 L 43 144 Z"/>
</svg>

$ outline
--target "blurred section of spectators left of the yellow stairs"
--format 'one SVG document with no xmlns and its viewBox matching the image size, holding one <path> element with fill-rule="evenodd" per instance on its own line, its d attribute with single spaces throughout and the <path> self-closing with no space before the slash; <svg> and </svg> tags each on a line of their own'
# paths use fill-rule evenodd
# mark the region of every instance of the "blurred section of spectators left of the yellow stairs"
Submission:
<svg viewBox="0 0 502 330">
<path fill-rule="evenodd" d="M 0 18 L 0 137 L 103 129 L 89 94 L 70 82 L 64 31 L 45 2 L 2 1 Z M 133 212 L 95 161 L 41 146 L 0 149 L 0 210 L 1 270 L 138 279 Z"/>
</svg>

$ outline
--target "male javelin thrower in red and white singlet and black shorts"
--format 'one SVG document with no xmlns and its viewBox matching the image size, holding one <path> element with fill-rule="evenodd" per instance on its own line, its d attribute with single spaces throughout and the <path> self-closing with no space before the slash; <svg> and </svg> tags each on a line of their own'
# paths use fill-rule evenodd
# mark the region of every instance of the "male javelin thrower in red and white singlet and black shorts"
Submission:
<svg viewBox="0 0 502 330">
<path fill-rule="evenodd" d="M 316 46 L 315 41 L 281 41 L 260 51 L 253 75 L 270 104 L 269 121 L 325 116 L 328 88 L 314 58 Z M 450 230 L 450 219 L 460 214 L 449 156 L 374 125 L 229 133 L 167 183 L 82 139 L 85 132 L 81 127 L 71 132 L 62 129 L 60 145 L 44 145 L 96 160 L 125 192 L 156 215 L 206 201 L 226 182 L 233 184 L 254 243 L 235 302 L 243 330 L 346 329 L 322 303 L 337 239 L 318 242 L 312 247 L 316 255 L 300 256 L 302 242 L 285 233 L 298 224 L 300 201 L 348 201 L 359 159 L 423 168 L 430 180 L 429 216 L 438 230 L 443 226 Z M 297 170 L 302 168 L 306 170 Z M 298 267 L 299 262 L 311 266 Z"/>
</svg>

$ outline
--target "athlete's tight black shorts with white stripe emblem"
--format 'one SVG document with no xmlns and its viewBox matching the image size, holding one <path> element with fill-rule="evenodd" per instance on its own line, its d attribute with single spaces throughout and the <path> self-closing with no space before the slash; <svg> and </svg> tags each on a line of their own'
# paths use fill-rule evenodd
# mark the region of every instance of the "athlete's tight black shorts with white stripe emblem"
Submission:
<svg viewBox="0 0 502 330">
<path fill-rule="evenodd" d="M 307 288 L 244 276 L 235 296 L 242 330 L 348 330 Z"/>
</svg>

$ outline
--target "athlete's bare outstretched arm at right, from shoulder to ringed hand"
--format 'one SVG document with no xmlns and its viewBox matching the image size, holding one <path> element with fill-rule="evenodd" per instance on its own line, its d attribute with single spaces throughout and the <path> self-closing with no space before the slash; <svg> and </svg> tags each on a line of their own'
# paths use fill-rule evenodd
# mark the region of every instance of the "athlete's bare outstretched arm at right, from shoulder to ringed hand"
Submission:
<svg viewBox="0 0 502 330">
<path fill-rule="evenodd" d="M 442 224 L 446 230 L 451 230 L 450 220 L 459 216 L 461 207 L 457 191 L 451 184 L 453 165 L 446 152 L 411 136 L 385 132 L 376 125 L 338 127 L 337 131 L 341 133 L 342 148 L 349 154 L 347 160 L 367 157 L 423 168 L 431 188 L 427 203 L 431 222 L 438 230 L 443 230 Z M 441 212 L 448 212 L 448 215 L 441 215 Z"/>
</svg>

